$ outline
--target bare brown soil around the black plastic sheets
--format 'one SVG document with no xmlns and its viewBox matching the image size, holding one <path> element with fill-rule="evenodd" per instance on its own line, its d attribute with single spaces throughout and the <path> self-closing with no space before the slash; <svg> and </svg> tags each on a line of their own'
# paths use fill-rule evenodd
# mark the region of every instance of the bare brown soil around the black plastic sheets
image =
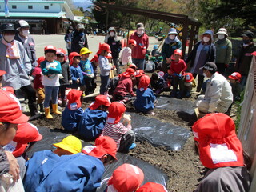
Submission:
<svg viewBox="0 0 256 192">
<path fill-rule="evenodd" d="M 167 96 L 168 94 L 170 93 L 162 93 L 163 96 Z M 195 95 L 192 95 L 191 98 L 183 99 L 193 102 L 195 97 Z M 83 109 L 89 106 L 92 101 L 92 98 L 87 99 L 90 101 L 82 105 Z M 129 112 L 135 112 L 132 103 L 128 103 L 126 108 Z M 154 112 L 154 116 L 147 116 L 191 130 L 190 124 L 194 117 L 188 117 L 186 114 L 177 113 L 173 110 L 155 109 Z M 36 126 L 46 126 L 50 129 L 62 129 L 61 118 L 56 115 L 54 115 L 53 120 L 42 118 L 32 123 Z M 195 190 L 198 179 L 202 178 L 205 170 L 198 158 L 198 154 L 196 154 L 192 134 L 180 151 L 170 151 L 166 150 L 165 147 L 154 147 L 148 142 L 140 142 L 137 143 L 137 147 L 131 150 L 129 154 L 163 170 L 169 176 L 169 181 L 167 182 L 168 191 L 185 192 Z"/>
</svg>

